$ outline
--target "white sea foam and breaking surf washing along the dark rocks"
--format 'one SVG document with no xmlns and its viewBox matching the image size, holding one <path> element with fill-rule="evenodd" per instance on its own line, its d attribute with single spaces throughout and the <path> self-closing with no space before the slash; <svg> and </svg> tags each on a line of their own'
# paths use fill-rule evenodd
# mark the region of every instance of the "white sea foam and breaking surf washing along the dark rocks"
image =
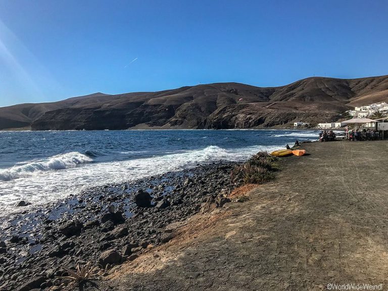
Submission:
<svg viewBox="0 0 388 291">
<path fill-rule="evenodd" d="M 39 205 L 65 198 L 71 193 L 77 194 L 93 186 L 193 168 L 197 164 L 243 161 L 258 151 L 277 149 L 279 146 L 253 146 L 233 150 L 209 146 L 196 151 L 105 163 L 90 163 L 92 160 L 80 153 L 59 155 L 0 172 L 3 179 L 0 181 L 0 216 L 6 215 L 9 206 L 20 200 Z"/>
</svg>

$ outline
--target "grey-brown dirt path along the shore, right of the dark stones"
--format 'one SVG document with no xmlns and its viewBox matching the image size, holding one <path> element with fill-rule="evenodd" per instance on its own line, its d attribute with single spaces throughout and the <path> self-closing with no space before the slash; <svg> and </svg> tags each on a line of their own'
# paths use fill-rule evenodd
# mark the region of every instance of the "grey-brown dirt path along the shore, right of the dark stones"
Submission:
<svg viewBox="0 0 388 291">
<path fill-rule="evenodd" d="M 319 290 L 336 282 L 388 289 L 388 142 L 305 148 L 310 156 L 287 158 L 249 201 L 192 218 L 170 243 L 99 288 Z"/>
</svg>

